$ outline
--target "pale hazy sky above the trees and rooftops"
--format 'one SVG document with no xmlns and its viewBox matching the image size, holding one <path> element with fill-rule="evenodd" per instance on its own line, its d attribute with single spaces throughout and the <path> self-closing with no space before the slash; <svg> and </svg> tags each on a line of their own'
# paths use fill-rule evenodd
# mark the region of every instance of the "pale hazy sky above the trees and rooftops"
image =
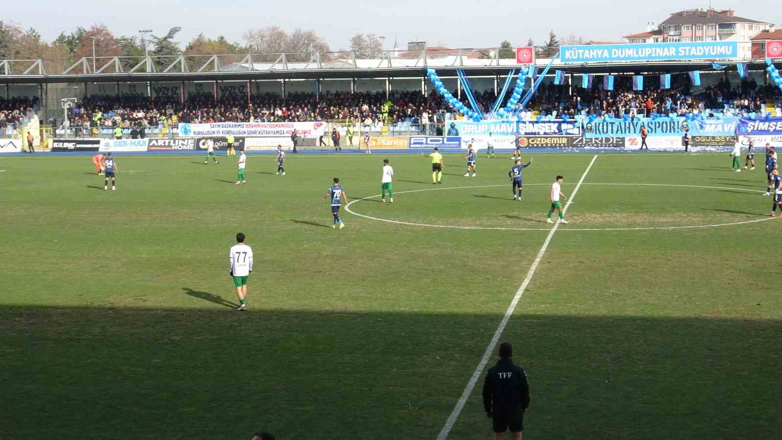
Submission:
<svg viewBox="0 0 782 440">
<path fill-rule="evenodd" d="M 514 45 L 524 45 L 528 38 L 540 43 L 548 31 L 565 38 L 575 34 L 587 40 L 621 41 L 623 34 L 644 31 L 647 21 L 659 23 L 681 9 L 705 9 L 708 2 L 683 3 L 676 0 L 627 2 L 595 0 L 593 2 L 518 2 L 496 0 L 477 2 L 450 0 L 440 3 L 410 0 L 394 2 L 356 2 L 330 0 L 316 2 L 76 2 L 77 7 L 61 1 L 12 2 L 3 7 L 2 20 L 24 27 L 35 27 L 43 38 L 51 41 L 60 31 L 72 31 L 77 26 L 89 27 L 104 23 L 117 36 L 138 35 L 149 28 L 155 34 L 165 34 L 170 27 L 181 26 L 178 41 L 182 47 L 195 35 L 204 33 L 217 37 L 223 34 L 231 41 L 242 41 L 242 33 L 250 28 L 276 25 L 292 30 L 313 29 L 321 34 L 332 49 L 350 47 L 350 37 L 360 32 L 373 32 L 386 37 L 386 48 L 396 38 L 401 48 L 407 41 L 425 40 L 429 45 L 443 43 L 451 48 L 491 47 L 509 39 Z M 651 7 L 654 5 L 653 7 Z M 782 8 L 770 8 L 766 2 L 716 2 L 715 9 L 733 6 L 738 16 L 754 20 L 782 23 Z M 64 17 L 69 16 L 67 20 Z"/>
</svg>

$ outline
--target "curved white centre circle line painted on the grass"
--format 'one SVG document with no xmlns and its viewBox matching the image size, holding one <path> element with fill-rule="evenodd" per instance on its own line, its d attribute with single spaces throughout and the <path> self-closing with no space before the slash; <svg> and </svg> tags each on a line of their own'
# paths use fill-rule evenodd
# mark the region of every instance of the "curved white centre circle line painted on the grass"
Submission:
<svg viewBox="0 0 782 440">
<path fill-rule="evenodd" d="M 548 185 L 548 183 L 527 183 L 526 186 L 533 185 Z M 759 189 L 746 189 L 746 188 L 730 188 L 728 186 L 702 186 L 702 185 L 674 185 L 666 183 L 584 183 L 584 185 L 592 186 L 673 186 L 679 188 L 705 188 L 705 189 L 732 189 L 734 191 L 746 191 L 748 193 L 762 193 Z M 505 185 L 477 185 L 477 186 L 453 186 L 447 188 L 429 188 L 429 189 L 412 189 L 410 191 L 400 191 L 397 194 L 405 193 L 420 193 L 421 191 L 438 191 L 445 189 L 465 189 L 465 188 L 488 188 L 492 186 L 505 186 Z M 350 209 L 350 205 L 360 202 L 361 200 L 373 199 L 380 197 L 380 194 L 370 197 L 362 197 L 351 201 L 346 205 L 345 210 L 350 214 L 357 215 L 359 217 L 369 218 L 370 220 L 378 220 L 379 222 L 396 223 L 397 225 L 408 226 L 425 226 L 429 228 L 450 228 L 450 229 L 485 229 L 485 230 L 497 230 L 497 231 L 547 231 L 550 228 L 510 228 L 510 227 L 494 227 L 494 226 L 454 226 L 454 225 L 430 225 L 428 223 L 413 223 L 413 222 L 401 222 L 399 220 L 389 220 L 388 218 L 372 217 L 371 215 L 364 215 Z M 510 199 L 508 199 L 510 200 Z M 748 223 L 765 222 L 771 220 L 771 217 L 758 218 L 755 220 L 746 220 L 744 222 L 730 222 L 730 223 L 715 223 L 712 225 L 689 225 L 689 226 L 645 226 L 645 227 L 627 227 L 627 228 L 565 228 L 564 231 L 650 231 L 650 230 L 671 230 L 671 229 L 701 229 L 701 228 L 716 228 L 719 226 L 734 226 L 734 225 L 746 225 Z"/>
</svg>

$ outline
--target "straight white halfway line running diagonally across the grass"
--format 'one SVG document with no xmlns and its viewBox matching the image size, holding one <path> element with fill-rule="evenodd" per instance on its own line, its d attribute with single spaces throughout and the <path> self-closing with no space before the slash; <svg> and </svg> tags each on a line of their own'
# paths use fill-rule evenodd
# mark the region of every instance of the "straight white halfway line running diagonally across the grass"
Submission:
<svg viewBox="0 0 782 440">
<path fill-rule="evenodd" d="M 592 165 L 594 164 L 594 161 L 596 159 L 597 159 L 597 154 L 595 154 L 594 157 L 592 157 L 592 161 L 589 163 L 589 166 L 587 167 L 587 171 L 584 171 L 584 174 L 581 175 L 581 180 L 579 180 L 579 183 L 576 185 L 576 189 L 573 189 L 573 193 L 570 195 L 570 198 L 568 199 L 568 203 L 565 204 L 565 207 L 562 209 L 562 212 L 568 211 L 568 207 L 570 206 L 570 204 L 572 204 L 573 199 L 576 198 L 576 193 L 579 192 L 579 188 L 581 187 L 584 178 L 587 177 L 587 173 L 592 168 Z M 454 406 L 454 411 L 450 413 L 448 420 L 445 422 L 445 426 L 443 426 L 443 430 L 440 431 L 439 435 L 437 436 L 437 440 L 445 440 L 446 438 L 448 438 L 448 434 L 450 434 L 450 430 L 453 429 L 454 424 L 456 424 L 456 420 L 459 417 L 459 414 L 461 413 L 461 409 L 465 407 L 465 403 L 467 403 L 467 399 L 472 394 L 472 389 L 475 388 L 475 383 L 478 382 L 479 377 L 481 377 L 481 374 L 483 373 L 483 369 L 486 368 L 486 364 L 489 362 L 489 359 L 492 353 L 494 352 L 494 347 L 497 346 L 497 341 L 500 341 L 500 336 L 502 336 L 502 332 L 503 330 L 505 330 L 505 326 L 508 324 L 508 319 L 511 319 L 511 315 L 513 315 L 513 311 L 515 310 L 516 305 L 518 304 L 518 300 L 522 299 L 524 290 L 526 290 L 527 285 L 529 285 L 529 280 L 532 280 L 533 275 L 535 274 L 535 270 L 537 269 L 537 266 L 540 264 L 540 260 L 541 258 L 543 258 L 543 254 L 546 252 L 548 243 L 551 243 L 551 237 L 553 237 L 554 233 L 557 232 L 559 225 L 561 225 L 561 223 L 559 222 L 559 220 L 557 220 L 557 223 L 554 225 L 553 228 L 551 228 L 551 232 L 548 233 L 548 236 L 546 237 L 546 241 L 543 242 L 543 246 L 540 247 L 540 251 L 538 251 L 538 254 L 535 257 L 535 261 L 533 261 L 533 265 L 529 266 L 529 272 L 527 272 L 527 276 L 524 279 L 522 286 L 518 287 L 518 290 L 516 291 L 516 294 L 513 297 L 513 301 L 511 301 L 511 305 L 508 306 L 508 310 L 505 311 L 505 316 L 503 316 L 502 320 L 500 321 L 500 326 L 497 326 L 497 331 L 494 332 L 494 336 L 491 338 L 489 346 L 486 347 L 486 352 L 483 352 L 483 357 L 481 358 L 481 362 L 479 362 L 478 366 L 475 367 L 475 372 L 472 373 L 472 377 L 470 377 L 470 381 L 467 383 L 467 386 L 465 387 L 465 391 L 461 393 L 461 398 L 459 398 L 459 401 L 456 403 L 456 406 Z"/>
</svg>

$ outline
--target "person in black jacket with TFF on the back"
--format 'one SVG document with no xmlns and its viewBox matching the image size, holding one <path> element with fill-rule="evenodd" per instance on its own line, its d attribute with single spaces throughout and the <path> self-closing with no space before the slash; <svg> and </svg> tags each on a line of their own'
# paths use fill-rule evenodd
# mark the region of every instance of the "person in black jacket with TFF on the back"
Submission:
<svg viewBox="0 0 782 440">
<path fill-rule="evenodd" d="M 508 429 L 515 440 L 521 440 L 524 412 L 529 406 L 527 373 L 513 363 L 512 355 L 511 344 L 500 344 L 500 360 L 483 380 L 483 409 L 492 419 L 494 440 L 502 440 Z"/>
</svg>

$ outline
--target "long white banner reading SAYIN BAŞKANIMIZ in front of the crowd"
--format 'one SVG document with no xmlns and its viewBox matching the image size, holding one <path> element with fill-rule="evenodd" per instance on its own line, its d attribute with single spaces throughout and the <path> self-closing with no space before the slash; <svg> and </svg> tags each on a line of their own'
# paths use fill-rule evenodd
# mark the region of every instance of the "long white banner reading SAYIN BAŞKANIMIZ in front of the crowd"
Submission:
<svg viewBox="0 0 782 440">
<path fill-rule="evenodd" d="M 322 136 L 325 122 L 215 122 L 214 124 L 179 124 L 181 136 L 259 136 L 290 137 L 296 134 L 308 138 Z"/>
</svg>

